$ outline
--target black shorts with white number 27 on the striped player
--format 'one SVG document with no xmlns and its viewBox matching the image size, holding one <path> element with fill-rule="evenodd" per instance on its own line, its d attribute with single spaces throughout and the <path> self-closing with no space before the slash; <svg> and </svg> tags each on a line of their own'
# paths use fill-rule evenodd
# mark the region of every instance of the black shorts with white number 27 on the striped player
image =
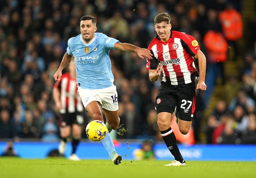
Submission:
<svg viewBox="0 0 256 178">
<path fill-rule="evenodd" d="M 159 92 L 156 96 L 156 112 L 173 113 L 175 107 L 179 119 L 192 121 L 196 105 L 195 82 L 182 85 L 170 85 L 161 82 Z"/>
</svg>

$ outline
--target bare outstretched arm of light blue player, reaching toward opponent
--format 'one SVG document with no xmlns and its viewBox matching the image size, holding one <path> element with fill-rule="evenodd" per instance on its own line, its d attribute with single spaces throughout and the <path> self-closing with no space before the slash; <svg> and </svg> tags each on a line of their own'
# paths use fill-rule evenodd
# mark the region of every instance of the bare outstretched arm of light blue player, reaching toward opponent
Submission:
<svg viewBox="0 0 256 178">
<path fill-rule="evenodd" d="M 135 52 L 140 58 L 147 57 L 148 59 L 152 59 L 152 54 L 148 49 L 145 48 L 140 48 L 138 46 L 129 44 L 129 43 L 120 43 L 116 42 L 114 45 L 114 48 L 120 49 L 122 51 L 130 51 L 130 52 Z M 143 57 L 144 56 L 144 57 Z"/>
</svg>

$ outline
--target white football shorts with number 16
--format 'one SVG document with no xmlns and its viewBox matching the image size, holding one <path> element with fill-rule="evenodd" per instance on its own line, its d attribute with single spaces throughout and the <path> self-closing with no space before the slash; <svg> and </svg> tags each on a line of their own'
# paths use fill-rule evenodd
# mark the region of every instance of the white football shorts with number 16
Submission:
<svg viewBox="0 0 256 178">
<path fill-rule="evenodd" d="M 118 110 L 117 91 L 115 85 L 108 88 L 93 90 L 78 87 L 77 92 L 82 99 L 85 110 L 86 106 L 92 101 L 99 101 L 102 108 L 108 111 Z"/>
</svg>

